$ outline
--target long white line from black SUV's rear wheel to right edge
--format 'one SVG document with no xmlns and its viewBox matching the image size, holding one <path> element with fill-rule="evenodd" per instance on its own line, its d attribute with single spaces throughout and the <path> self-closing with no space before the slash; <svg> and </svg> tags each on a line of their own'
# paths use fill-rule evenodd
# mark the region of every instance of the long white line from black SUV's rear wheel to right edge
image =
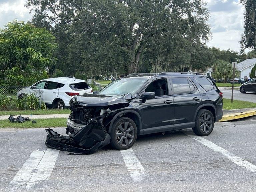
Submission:
<svg viewBox="0 0 256 192">
<path fill-rule="evenodd" d="M 189 137 L 192 137 L 193 139 L 195 139 L 198 142 L 202 143 L 206 147 L 212 149 L 213 151 L 216 151 L 216 152 L 219 152 L 219 153 L 225 155 L 230 161 L 232 161 L 233 163 L 239 165 L 240 167 L 242 167 L 244 169 L 247 169 L 247 170 L 253 172 L 254 174 L 256 174 L 256 166 L 254 164 L 252 164 L 252 163 L 242 159 L 241 157 L 236 156 L 233 153 L 230 153 L 226 149 L 223 149 L 222 147 L 212 143 L 211 141 L 209 141 L 207 139 L 204 139 L 203 137 L 192 135 L 192 134 L 188 134 L 185 131 L 184 131 L 184 133 L 186 135 L 188 135 Z"/>
</svg>

